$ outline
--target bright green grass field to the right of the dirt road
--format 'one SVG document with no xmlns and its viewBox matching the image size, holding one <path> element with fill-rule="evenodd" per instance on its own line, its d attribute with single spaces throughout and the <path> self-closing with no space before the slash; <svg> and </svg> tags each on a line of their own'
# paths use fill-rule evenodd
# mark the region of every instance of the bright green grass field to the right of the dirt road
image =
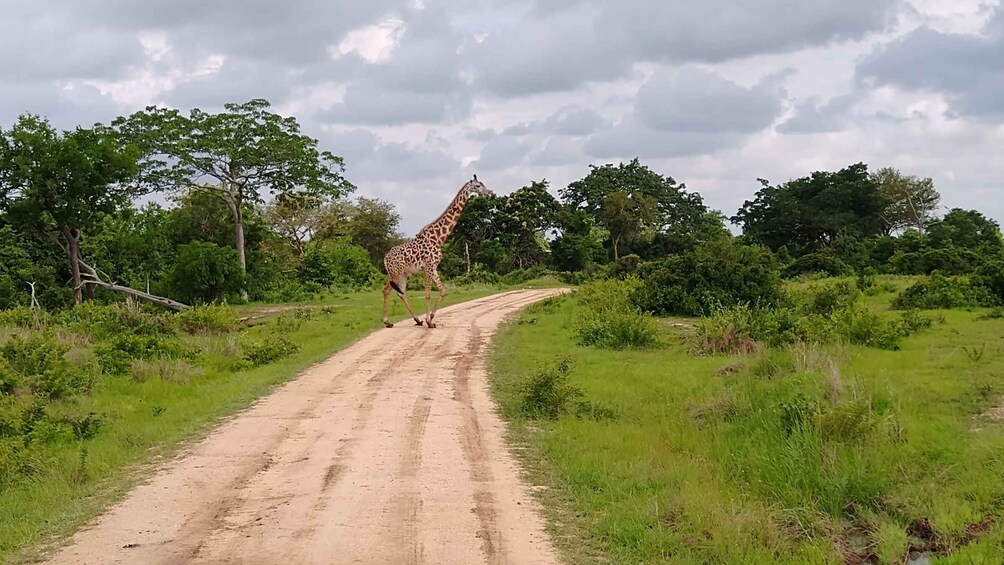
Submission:
<svg viewBox="0 0 1004 565">
<path fill-rule="evenodd" d="M 490 359 L 568 562 L 1004 561 L 1004 422 L 981 417 L 1004 393 L 1004 319 L 940 312 L 899 351 L 698 357 L 669 323 L 657 349 L 579 346 L 578 308 L 531 307 Z M 523 415 L 524 383 L 562 356 L 565 385 L 612 419 Z"/>
</svg>

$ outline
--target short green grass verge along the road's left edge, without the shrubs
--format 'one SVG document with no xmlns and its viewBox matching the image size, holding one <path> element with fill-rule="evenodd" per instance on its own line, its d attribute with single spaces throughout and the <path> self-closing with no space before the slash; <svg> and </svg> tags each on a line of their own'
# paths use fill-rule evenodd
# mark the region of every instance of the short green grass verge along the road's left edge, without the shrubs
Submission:
<svg viewBox="0 0 1004 565">
<path fill-rule="evenodd" d="M 527 283 L 515 288 L 547 284 Z M 501 290 L 486 285 L 451 288 L 445 305 Z M 424 307 L 421 292 L 410 295 L 413 305 Z M 50 402 L 46 407 L 49 412 L 98 414 L 100 431 L 86 439 L 70 437 L 46 444 L 39 454 L 44 466 L 36 466 L 28 479 L 3 492 L 0 562 L 32 559 L 43 543 L 73 532 L 119 499 L 142 479 L 147 464 L 170 457 L 183 442 L 204 435 L 221 417 L 248 406 L 276 385 L 381 327 L 381 300 L 379 291 L 336 295 L 326 297 L 323 307 L 296 306 L 307 308 L 309 314 L 273 312 L 239 334 L 183 336 L 189 346 L 202 351 L 200 366 L 151 363 L 149 371 L 156 374 L 138 378 L 134 364 L 132 378 L 101 377 L 88 394 Z M 239 315 L 260 310 L 244 307 Z M 396 319 L 403 314 L 407 317 L 400 300 L 395 300 L 393 312 Z M 19 332 L 23 330 L 0 326 L 0 345 Z M 56 333 L 53 339 L 74 343 L 68 353 L 74 362 L 92 358 L 93 350 L 101 345 L 61 329 Z M 240 355 L 240 343 L 280 333 L 299 346 L 296 352 L 252 368 L 232 362 Z"/>
</svg>

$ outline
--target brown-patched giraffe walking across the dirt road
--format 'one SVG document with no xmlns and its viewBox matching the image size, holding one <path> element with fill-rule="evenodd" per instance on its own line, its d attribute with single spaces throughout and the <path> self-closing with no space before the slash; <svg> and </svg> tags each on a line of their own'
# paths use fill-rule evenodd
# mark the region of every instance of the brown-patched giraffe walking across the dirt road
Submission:
<svg viewBox="0 0 1004 565">
<path fill-rule="evenodd" d="M 472 181 L 468 181 L 461 187 L 457 196 L 450 202 L 450 206 L 439 218 L 422 228 L 419 235 L 415 236 L 412 241 L 395 246 L 387 252 L 387 255 L 384 256 L 384 266 L 387 268 L 387 284 L 384 285 L 385 326 L 394 327 L 394 324 L 388 319 L 388 298 L 393 289 L 405 303 L 408 313 L 415 320 L 415 325 L 420 326 L 425 323 L 429 328 L 436 327 L 433 318 L 436 317 L 436 310 L 439 309 L 446 296 L 446 287 L 443 286 L 443 281 L 440 280 L 437 272 L 439 263 L 443 259 L 443 244 L 453 233 L 453 229 L 457 227 L 457 222 L 460 220 L 460 215 L 464 211 L 468 199 L 472 196 L 491 194 L 492 192 L 481 184 L 481 181 L 478 181 L 478 176 L 475 175 Z M 412 305 L 408 303 L 408 277 L 416 273 L 423 273 L 426 278 L 426 319 L 424 322 L 415 315 Z M 439 299 L 436 300 L 436 305 L 430 311 L 429 302 L 432 299 L 431 285 L 433 284 L 439 291 Z"/>
</svg>

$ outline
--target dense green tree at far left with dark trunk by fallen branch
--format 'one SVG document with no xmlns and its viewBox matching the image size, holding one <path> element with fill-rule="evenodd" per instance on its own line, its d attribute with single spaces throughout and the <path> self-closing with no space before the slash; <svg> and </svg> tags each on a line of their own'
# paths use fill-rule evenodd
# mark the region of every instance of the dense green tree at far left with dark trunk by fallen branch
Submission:
<svg viewBox="0 0 1004 565">
<path fill-rule="evenodd" d="M 84 283 L 80 238 L 143 191 L 139 159 L 136 147 L 100 127 L 59 132 L 45 119 L 22 115 L 0 131 L 0 210 L 59 243 L 77 304 Z"/>
</svg>

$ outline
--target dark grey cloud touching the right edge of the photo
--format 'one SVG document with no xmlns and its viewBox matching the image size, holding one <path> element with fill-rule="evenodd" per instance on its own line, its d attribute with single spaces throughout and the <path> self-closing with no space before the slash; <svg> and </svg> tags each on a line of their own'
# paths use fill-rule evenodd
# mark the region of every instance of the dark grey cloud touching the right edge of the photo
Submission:
<svg viewBox="0 0 1004 565">
<path fill-rule="evenodd" d="M 957 115 L 1004 119 L 1004 8 L 982 35 L 921 27 L 876 49 L 857 66 L 857 76 L 944 93 Z"/>
</svg>

